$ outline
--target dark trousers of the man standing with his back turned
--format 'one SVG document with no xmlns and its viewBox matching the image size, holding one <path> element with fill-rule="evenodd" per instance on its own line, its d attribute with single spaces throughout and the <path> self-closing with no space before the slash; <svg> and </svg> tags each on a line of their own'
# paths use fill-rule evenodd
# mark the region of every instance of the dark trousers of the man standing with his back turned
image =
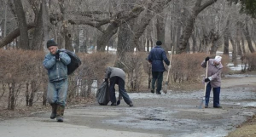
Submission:
<svg viewBox="0 0 256 137">
<path fill-rule="evenodd" d="M 154 89 L 155 82 L 157 80 L 156 93 L 160 93 L 163 83 L 163 71 L 152 71 L 152 88 Z"/>
</svg>

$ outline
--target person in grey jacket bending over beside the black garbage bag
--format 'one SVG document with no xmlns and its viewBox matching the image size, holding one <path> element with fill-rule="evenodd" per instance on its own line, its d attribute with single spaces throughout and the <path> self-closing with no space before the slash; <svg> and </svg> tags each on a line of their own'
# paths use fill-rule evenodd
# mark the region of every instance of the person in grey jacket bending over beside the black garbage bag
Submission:
<svg viewBox="0 0 256 137">
<path fill-rule="evenodd" d="M 117 106 L 116 98 L 115 98 L 115 88 L 114 85 L 119 85 L 119 96 L 122 96 L 125 100 L 125 103 L 129 106 L 133 106 L 129 95 L 125 90 L 125 71 L 117 67 L 107 67 L 105 81 L 110 79 L 109 92 L 110 92 L 110 101 L 111 106 Z"/>
</svg>

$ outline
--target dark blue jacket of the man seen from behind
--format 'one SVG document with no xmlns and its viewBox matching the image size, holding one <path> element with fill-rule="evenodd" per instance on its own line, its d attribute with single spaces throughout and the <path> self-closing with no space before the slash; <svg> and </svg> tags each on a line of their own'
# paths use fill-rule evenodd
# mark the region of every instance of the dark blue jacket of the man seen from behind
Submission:
<svg viewBox="0 0 256 137">
<path fill-rule="evenodd" d="M 170 65 L 170 61 L 166 57 L 165 50 L 156 45 L 148 54 L 148 62 L 152 64 L 152 71 L 166 71 L 163 60 L 167 66 Z"/>
</svg>

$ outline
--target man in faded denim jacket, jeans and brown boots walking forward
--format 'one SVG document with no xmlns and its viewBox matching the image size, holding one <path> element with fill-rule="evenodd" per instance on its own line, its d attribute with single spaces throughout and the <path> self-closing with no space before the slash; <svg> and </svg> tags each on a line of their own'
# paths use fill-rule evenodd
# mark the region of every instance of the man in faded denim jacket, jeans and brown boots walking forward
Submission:
<svg viewBox="0 0 256 137">
<path fill-rule="evenodd" d="M 63 114 L 67 98 L 67 65 L 71 62 L 68 54 L 60 52 L 54 40 L 47 42 L 49 54 L 44 57 L 43 65 L 48 71 L 49 83 L 47 100 L 52 107 L 51 119 L 63 122 Z"/>
</svg>

